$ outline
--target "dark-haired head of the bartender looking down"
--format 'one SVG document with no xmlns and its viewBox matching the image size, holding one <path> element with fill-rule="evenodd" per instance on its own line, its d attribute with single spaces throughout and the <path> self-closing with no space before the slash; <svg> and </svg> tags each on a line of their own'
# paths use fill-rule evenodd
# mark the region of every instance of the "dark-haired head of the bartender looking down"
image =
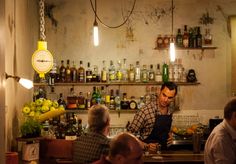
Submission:
<svg viewBox="0 0 236 164">
<path fill-rule="evenodd" d="M 173 82 L 165 82 L 161 86 L 159 95 L 159 105 L 162 107 L 169 106 L 170 102 L 174 100 L 177 94 L 177 85 Z"/>
</svg>

